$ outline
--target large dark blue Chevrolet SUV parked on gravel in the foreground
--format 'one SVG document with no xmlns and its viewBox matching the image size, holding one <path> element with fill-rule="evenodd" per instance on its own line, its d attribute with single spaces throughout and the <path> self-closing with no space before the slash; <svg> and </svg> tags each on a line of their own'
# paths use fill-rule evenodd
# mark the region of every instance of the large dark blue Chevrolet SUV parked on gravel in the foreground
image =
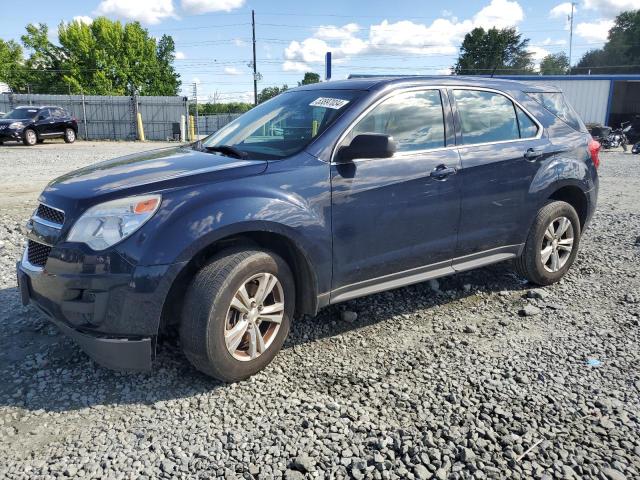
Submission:
<svg viewBox="0 0 640 480">
<path fill-rule="evenodd" d="M 20 290 L 106 366 L 150 368 L 175 326 L 199 370 L 235 381 L 330 304 L 509 259 L 557 282 L 596 208 L 598 148 L 549 87 L 303 86 L 51 182 Z"/>
</svg>

